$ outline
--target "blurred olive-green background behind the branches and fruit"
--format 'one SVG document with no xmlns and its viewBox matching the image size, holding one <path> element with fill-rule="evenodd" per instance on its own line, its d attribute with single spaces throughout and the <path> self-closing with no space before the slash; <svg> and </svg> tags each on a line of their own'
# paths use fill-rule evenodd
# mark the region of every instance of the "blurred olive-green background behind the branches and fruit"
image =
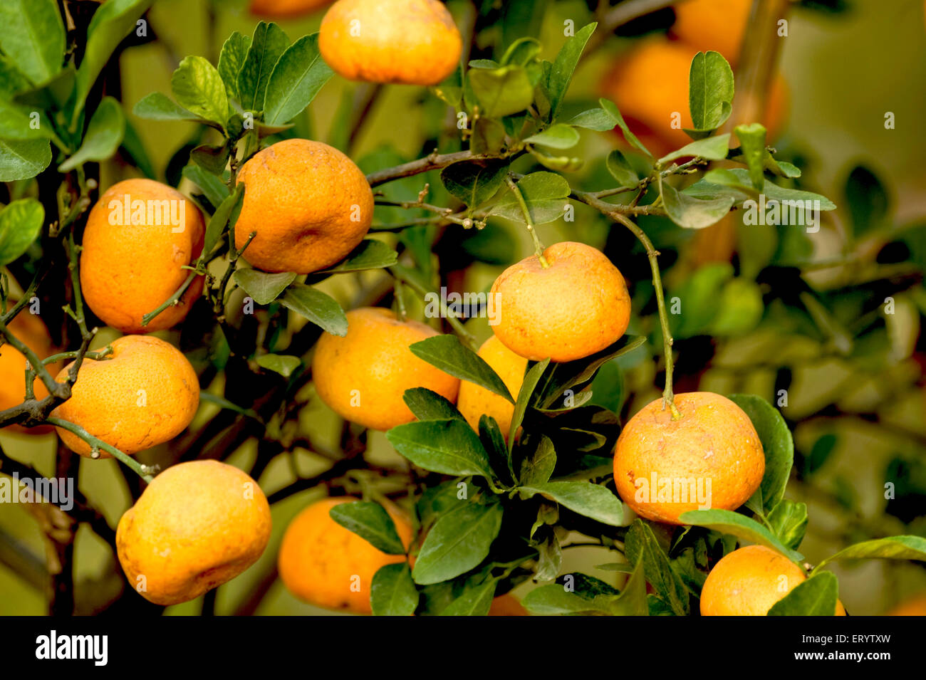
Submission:
<svg viewBox="0 0 926 680">
<path fill-rule="evenodd" d="M 463 5 L 449 3 L 455 12 L 462 11 Z M 780 65 L 791 96 L 788 123 L 777 147 L 783 157 L 794 158 L 805 169 L 802 186 L 824 193 L 839 205 L 838 211 L 826 217 L 819 233 L 804 237 L 806 247 L 798 248 L 797 252 L 805 253 L 809 271 L 806 279 L 821 297 L 832 303 L 837 319 L 841 314 L 857 315 L 857 309 L 864 307 L 853 302 L 851 295 L 844 297 L 846 287 L 855 290 L 853 287 L 864 288 L 875 278 L 890 278 L 892 273 L 885 274 L 882 266 L 895 263 L 882 263 L 878 258 L 891 242 L 907 243 L 909 253 L 905 262 L 916 264 L 919 257 L 919 288 L 914 286 L 897 295 L 897 318 L 886 318 L 882 326 L 857 339 L 857 347 L 867 348 L 864 352 L 834 356 L 832 339 L 819 339 L 814 333 L 802 332 L 786 311 L 771 307 L 764 310 L 761 321 L 757 320 L 752 328 L 713 334 L 713 358 L 707 366 L 699 367 L 696 375 L 684 375 L 684 352 L 686 348 L 695 348 L 697 338 L 709 333 L 694 328 L 687 340 L 682 333 L 676 345 L 682 357 L 680 378 L 700 389 L 722 393 L 751 391 L 772 401 L 782 366 L 789 371 L 788 402 L 782 413 L 795 425 L 798 455 L 796 478 L 792 479 L 787 496 L 807 502 L 809 530 L 801 550 L 812 563 L 849 542 L 865 538 L 904 533 L 926 536 L 926 390 L 922 377 L 926 361 L 922 340 L 919 349 L 916 344 L 924 309 L 921 266 L 926 254 L 922 227 L 926 225 L 923 4 L 920 0 L 857 0 L 846 5 L 847 9 L 838 13 L 795 6 L 789 35 L 783 39 Z M 544 43 L 544 56 L 554 56 L 562 43 L 563 19 L 573 19 L 576 26 L 582 26 L 589 17 L 584 2 L 547 3 L 539 36 Z M 127 113 L 145 94 L 169 92 L 171 71 L 182 56 L 202 55 L 215 62 L 231 31 L 250 33 L 257 22 L 243 2 L 209 0 L 157 0 L 148 18 L 156 40 L 130 47 L 120 60 L 121 99 Z M 320 19 L 318 13 L 307 19 L 280 23 L 294 40 L 317 31 Z M 603 73 L 623 50 L 632 48 L 633 40 L 612 38 L 582 63 L 569 92 L 571 108 L 578 112 L 594 103 Z M 654 72 L 653 77 L 657 78 L 658 73 Z M 362 88 L 354 83 L 334 77 L 300 121 L 299 133 L 344 148 L 345 119 L 353 110 L 355 98 L 363 94 Z M 894 130 L 884 128 L 886 112 L 895 114 Z M 444 106 L 425 91 L 387 86 L 369 112 L 355 143 L 345 150 L 367 171 L 395 165 L 422 155 L 424 142 L 436 136 L 444 116 Z M 193 124 L 152 122 L 132 116 L 131 123 L 140 133 L 159 179 L 164 179 L 166 172 L 170 174 L 174 154 L 201 131 Z M 585 188 L 605 188 L 607 184 L 600 183 L 606 181 L 601 167 L 616 143 L 617 137 L 610 133 L 583 131 L 577 155 L 587 159 L 586 166 L 569 175 L 569 180 L 585 184 Z M 882 224 L 865 233 L 857 233 L 857 229 L 853 232 L 850 202 L 845 195 L 849 172 L 857 166 L 868 167 L 880 179 L 887 198 Z M 114 162 L 101 168 L 101 182 L 106 187 L 138 174 L 137 169 Z M 405 189 L 399 191 L 411 192 L 410 197 L 414 197 L 423 182 L 422 178 L 413 178 L 403 183 Z M 590 211 L 577 209 L 576 214 L 575 222 L 560 220 L 542 226 L 541 239 L 545 243 L 566 239 L 587 241 L 605 247 L 607 223 Z M 389 216 L 380 217 L 389 221 Z M 647 230 L 664 252 L 682 250 L 690 237 L 679 234 L 681 229 L 667 229 L 655 222 Z M 669 233 L 672 231 L 674 235 Z M 469 253 L 475 253 L 475 262 L 462 278 L 460 290 L 467 291 L 486 290 L 505 265 L 531 252 L 526 233 L 502 222 L 493 224 L 483 234 L 470 235 L 466 247 Z M 626 274 L 619 257 L 614 252 L 609 254 Z M 637 259 L 639 255 L 635 254 Z M 820 265 L 834 258 L 847 259 L 849 264 Z M 810 264 L 814 262 L 818 264 Z M 374 272 L 357 278 L 329 279 L 323 286 L 346 308 L 361 285 L 369 285 L 379 276 L 382 275 Z M 666 278 L 669 295 L 673 291 L 692 290 L 685 286 L 693 285 L 693 275 L 681 266 L 669 269 Z M 645 303 L 651 294 L 645 283 L 641 282 L 634 291 L 636 309 L 639 309 L 636 302 Z M 864 290 L 863 297 L 870 300 L 873 293 Z M 827 297 L 827 291 L 838 292 Z M 845 302 L 845 310 L 836 309 L 840 301 Z M 704 304 L 716 307 L 718 297 L 707 295 Z M 717 314 L 718 309 L 707 309 L 708 318 Z M 632 332 L 652 334 L 652 323 L 652 318 L 634 319 Z M 477 319 L 469 325 L 480 338 L 487 337 L 489 328 L 484 321 Z M 110 338 L 104 334 L 97 344 L 105 344 Z M 652 355 L 652 348 L 632 352 L 621 358 L 619 365 L 606 367 L 595 382 L 595 391 L 600 390 L 605 395 L 603 399 L 611 399 L 623 418 L 657 396 L 657 366 L 651 360 Z M 607 384 L 608 381 L 613 384 Z M 606 394 L 608 390 L 610 394 Z M 834 409 L 828 410 L 830 405 Z M 205 406 L 194 427 L 210 413 L 214 413 L 214 407 Z M 309 400 L 301 421 L 311 430 L 313 439 L 337 447 L 340 433 L 337 419 L 318 400 Z M 0 443 L 11 457 L 34 465 L 44 475 L 54 474 L 54 435 L 24 438 L 0 434 Z M 248 444 L 229 462 L 246 469 L 254 455 L 255 447 Z M 370 458 L 388 461 L 395 455 L 382 434 L 370 435 Z M 154 460 L 157 451 L 145 453 L 143 459 L 145 456 Z M 279 456 L 259 480 L 265 492 L 269 494 L 294 480 L 293 463 L 302 476 L 324 468 L 323 461 L 306 451 L 294 452 L 292 461 L 287 455 Z M 885 481 L 895 482 L 898 497 L 903 496 L 901 501 L 905 504 L 892 506 L 885 500 Z M 94 506 L 102 509 L 112 526 L 129 506 L 131 497 L 124 477 L 111 460 L 81 461 L 80 487 Z M 321 489 L 313 489 L 274 505 L 269 549 L 244 575 L 219 588 L 217 613 L 235 612 L 247 600 L 272 568 L 288 521 L 322 493 Z M 0 504 L 0 557 L 4 558 L 0 560 L 0 614 L 46 612 L 43 585 L 28 582 L 4 564 L 19 561 L 36 569 L 44 568 L 46 548 L 41 528 L 44 521 L 47 518 L 41 508 Z M 584 571 L 607 578 L 607 573 L 593 569 L 595 564 L 612 561 L 606 552 L 595 548 L 567 550 L 563 573 Z M 113 564 L 106 543 L 86 527 L 81 527 L 77 536 L 75 564 L 81 612 L 91 612 L 90 603 L 115 597 L 123 587 L 124 579 L 119 578 L 118 566 Z M 926 570 L 920 563 L 839 563 L 833 570 L 840 577 L 840 598 L 853 614 L 882 613 L 908 595 L 926 589 Z M 523 584 L 518 591 L 530 587 L 530 583 Z M 168 612 L 195 614 L 201 606 L 202 602 L 197 600 L 171 607 Z M 256 613 L 331 612 L 295 600 L 277 581 L 269 587 Z"/>
</svg>

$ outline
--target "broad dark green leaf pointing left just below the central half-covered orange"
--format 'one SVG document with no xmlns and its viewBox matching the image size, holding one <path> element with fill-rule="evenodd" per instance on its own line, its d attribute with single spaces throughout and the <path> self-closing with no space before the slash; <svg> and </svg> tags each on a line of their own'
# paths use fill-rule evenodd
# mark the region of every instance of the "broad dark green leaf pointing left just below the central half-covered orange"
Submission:
<svg viewBox="0 0 926 680">
<path fill-rule="evenodd" d="M 458 418 L 399 425 L 386 432 L 386 439 L 396 451 L 425 470 L 492 478 L 489 454 L 482 448 L 482 441 L 466 421 Z"/>
</svg>

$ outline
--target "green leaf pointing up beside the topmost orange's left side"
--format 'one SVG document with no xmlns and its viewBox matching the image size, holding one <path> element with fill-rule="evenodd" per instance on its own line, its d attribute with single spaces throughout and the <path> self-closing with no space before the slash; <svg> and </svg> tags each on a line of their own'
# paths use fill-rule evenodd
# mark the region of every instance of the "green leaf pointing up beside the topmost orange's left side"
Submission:
<svg viewBox="0 0 926 680">
<path fill-rule="evenodd" d="M 282 125 L 315 99 L 334 75 L 319 53 L 319 34 L 300 38 L 286 48 L 273 67 L 264 99 L 264 122 Z"/>
</svg>

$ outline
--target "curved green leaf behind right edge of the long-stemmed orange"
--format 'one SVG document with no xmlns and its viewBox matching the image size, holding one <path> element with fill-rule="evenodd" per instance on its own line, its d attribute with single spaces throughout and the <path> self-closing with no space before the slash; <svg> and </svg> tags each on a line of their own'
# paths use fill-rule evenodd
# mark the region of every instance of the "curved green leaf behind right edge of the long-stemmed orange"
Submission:
<svg viewBox="0 0 926 680">
<path fill-rule="evenodd" d="M 795 464 L 795 440 L 782 414 L 755 394 L 730 394 L 729 399 L 745 411 L 756 428 L 765 451 L 765 475 L 758 492 L 762 504 L 770 511 L 784 497 L 784 488 Z"/>
</svg>

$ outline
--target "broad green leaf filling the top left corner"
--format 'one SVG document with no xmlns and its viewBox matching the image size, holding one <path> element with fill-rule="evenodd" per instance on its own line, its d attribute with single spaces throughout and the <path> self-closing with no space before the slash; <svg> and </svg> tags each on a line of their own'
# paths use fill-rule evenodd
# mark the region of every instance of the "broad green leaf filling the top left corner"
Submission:
<svg viewBox="0 0 926 680">
<path fill-rule="evenodd" d="M 64 24 L 55 0 L 0 3 L 0 49 L 33 84 L 51 80 L 64 63 Z"/>
</svg>

